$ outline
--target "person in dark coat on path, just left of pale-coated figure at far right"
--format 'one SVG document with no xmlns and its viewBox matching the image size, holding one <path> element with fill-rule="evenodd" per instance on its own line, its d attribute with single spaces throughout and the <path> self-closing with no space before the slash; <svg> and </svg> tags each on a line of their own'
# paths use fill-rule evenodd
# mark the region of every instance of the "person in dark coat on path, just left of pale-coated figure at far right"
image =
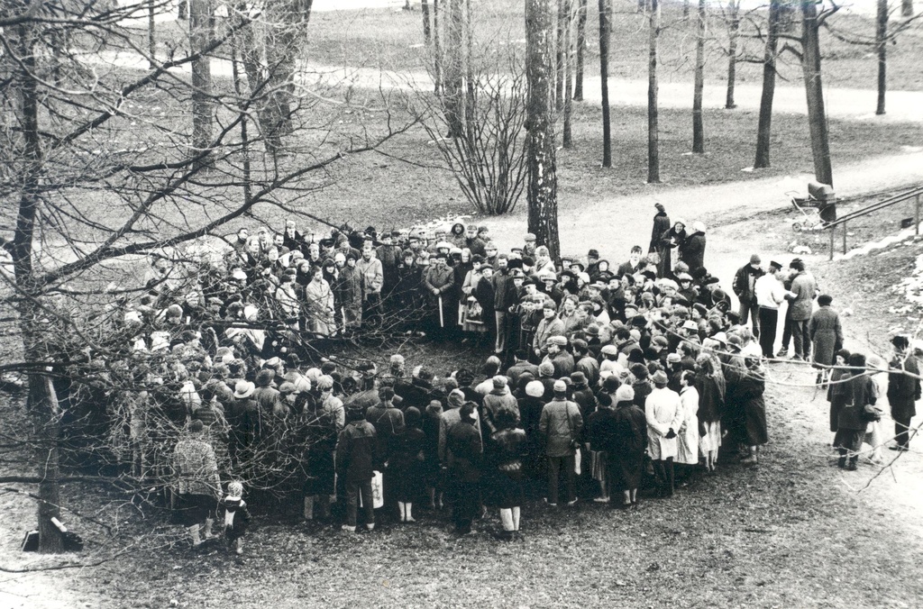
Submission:
<svg viewBox="0 0 923 609">
<path fill-rule="evenodd" d="M 838 465 L 851 472 L 857 470 L 859 450 L 865 439 L 866 428 L 869 425 L 870 415 L 868 406 L 874 406 L 878 400 L 875 381 L 864 374 L 866 358 L 862 353 L 852 353 L 849 356 L 849 376 L 847 382 L 849 402 L 840 410 L 837 422 L 836 436 L 833 438 L 833 448 L 840 453 Z M 844 376 L 844 377 L 845 377 Z"/>
</svg>

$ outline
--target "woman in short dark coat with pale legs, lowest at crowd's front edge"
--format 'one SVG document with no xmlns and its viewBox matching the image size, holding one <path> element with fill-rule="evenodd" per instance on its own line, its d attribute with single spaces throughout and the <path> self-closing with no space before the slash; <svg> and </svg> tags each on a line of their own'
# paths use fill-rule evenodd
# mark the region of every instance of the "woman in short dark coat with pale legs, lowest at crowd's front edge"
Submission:
<svg viewBox="0 0 923 609">
<path fill-rule="evenodd" d="M 499 508 L 503 531 L 500 539 L 509 541 L 519 531 L 520 508 L 525 503 L 523 458 L 525 432 L 516 427 L 516 413 L 500 410 L 494 419 L 497 427 L 485 453 L 485 505 Z"/>
</svg>

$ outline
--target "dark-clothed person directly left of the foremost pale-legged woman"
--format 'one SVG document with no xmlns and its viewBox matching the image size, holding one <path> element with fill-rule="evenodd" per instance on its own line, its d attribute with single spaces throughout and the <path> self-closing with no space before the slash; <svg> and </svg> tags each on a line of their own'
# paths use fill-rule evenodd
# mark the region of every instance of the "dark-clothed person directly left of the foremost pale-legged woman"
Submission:
<svg viewBox="0 0 923 609">
<path fill-rule="evenodd" d="M 452 520 L 459 534 L 471 532 L 471 523 L 481 511 L 481 461 L 484 447 L 477 430 L 474 411 L 477 404 L 466 401 L 459 409 L 459 422 L 446 437 L 448 454 L 448 491 Z"/>
</svg>

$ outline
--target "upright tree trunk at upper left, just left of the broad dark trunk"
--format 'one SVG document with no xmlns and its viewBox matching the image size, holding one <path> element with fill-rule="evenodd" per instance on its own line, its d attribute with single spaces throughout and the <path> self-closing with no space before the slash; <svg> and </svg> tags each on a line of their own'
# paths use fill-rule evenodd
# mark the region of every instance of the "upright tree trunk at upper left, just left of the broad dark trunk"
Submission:
<svg viewBox="0 0 923 609">
<path fill-rule="evenodd" d="M 189 43 L 200 53 L 211 42 L 209 0 L 189 0 Z M 207 54 L 192 62 L 192 146 L 198 150 L 211 145 L 214 98 L 211 95 L 211 58 Z"/>
</svg>

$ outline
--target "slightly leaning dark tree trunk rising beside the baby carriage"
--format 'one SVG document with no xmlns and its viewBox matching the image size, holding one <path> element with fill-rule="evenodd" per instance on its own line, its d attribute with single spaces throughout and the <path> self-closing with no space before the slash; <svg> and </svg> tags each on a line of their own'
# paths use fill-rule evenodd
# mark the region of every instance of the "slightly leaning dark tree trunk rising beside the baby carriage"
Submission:
<svg viewBox="0 0 923 609">
<path fill-rule="evenodd" d="M 827 114 L 823 104 L 821 82 L 821 37 L 814 0 L 801 0 L 801 67 L 805 77 L 808 97 L 808 123 L 810 148 L 814 157 L 814 176 L 821 184 L 833 185 L 833 167 L 830 162 L 830 137 L 827 131 Z"/>
</svg>

